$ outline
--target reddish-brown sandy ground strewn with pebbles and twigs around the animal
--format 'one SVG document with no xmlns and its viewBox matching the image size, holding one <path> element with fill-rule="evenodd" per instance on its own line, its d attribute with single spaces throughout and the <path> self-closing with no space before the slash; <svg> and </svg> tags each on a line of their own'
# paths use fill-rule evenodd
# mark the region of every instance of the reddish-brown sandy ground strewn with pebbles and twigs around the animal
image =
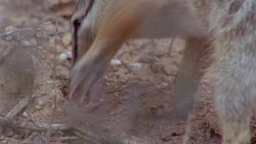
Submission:
<svg viewBox="0 0 256 144">
<path fill-rule="evenodd" d="M 53 124 L 71 124 L 91 132 L 91 139 L 98 143 L 181 143 L 186 119 L 159 113 L 174 98 L 174 81 L 184 48 L 179 38 L 175 38 L 171 53 L 171 38 L 128 40 L 113 58 L 96 93 L 88 98 L 91 104 L 63 97 L 71 66 L 69 29 L 75 3 L 0 2 L 5 8 L 1 11 L 0 35 L 6 34 L 0 36 L 0 116 L 10 122 L 0 119 L 0 143 L 45 143 L 46 131 L 36 126 L 48 124 L 52 117 Z M 221 143 L 208 75 L 199 85 L 190 121 L 190 143 Z M 10 116 L 14 106 L 27 97 L 31 102 Z M 13 126 L 13 122 L 25 128 L 34 124 L 38 130 Z M 253 117 L 252 142 L 255 123 Z M 75 130 L 54 129 L 51 143 L 92 143 L 86 136 L 68 139 L 81 136 Z"/>
</svg>

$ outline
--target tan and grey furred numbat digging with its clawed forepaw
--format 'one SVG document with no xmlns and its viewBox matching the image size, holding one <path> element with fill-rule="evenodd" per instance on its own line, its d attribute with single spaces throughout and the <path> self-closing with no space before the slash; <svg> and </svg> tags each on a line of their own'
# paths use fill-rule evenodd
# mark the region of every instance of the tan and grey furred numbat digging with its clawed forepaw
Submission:
<svg viewBox="0 0 256 144">
<path fill-rule="evenodd" d="M 250 143 L 256 98 L 255 0 L 81 0 L 72 16 L 72 33 L 71 96 L 76 89 L 85 95 L 98 82 L 125 40 L 184 38 L 175 94 L 184 100 L 194 96 L 207 66 L 204 72 L 214 77 L 223 143 Z M 179 91 L 182 87 L 189 87 L 187 93 Z"/>
</svg>

